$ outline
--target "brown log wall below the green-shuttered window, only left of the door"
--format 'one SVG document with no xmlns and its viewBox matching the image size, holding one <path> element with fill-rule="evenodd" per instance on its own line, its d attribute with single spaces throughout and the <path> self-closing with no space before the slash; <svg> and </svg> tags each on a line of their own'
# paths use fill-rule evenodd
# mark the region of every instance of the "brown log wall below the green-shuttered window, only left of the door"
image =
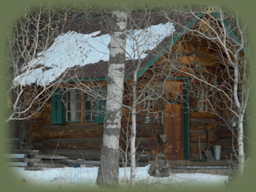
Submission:
<svg viewBox="0 0 256 192">
<path fill-rule="evenodd" d="M 125 125 L 125 123 L 123 123 Z M 120 134 L 120 148 L 126 149 L 126 126 Z M 43 153 L 52 155 L 61 151 L 69 158 L 86 158 L 99 160 L 103 125 L 51 125 L 51 105 L 46 104 L 43 113 L 30 120 L 29 142 L 33 149 L 40 149 Z M 138 153 L 148 155 L 163 150 L 157 135 L 157 126 L 138 123 L 136 145 Z M 81 155 L 80 155 L 81 153 Z M 140 156 L 141 158 L 141 156 Z"/>
</svg>

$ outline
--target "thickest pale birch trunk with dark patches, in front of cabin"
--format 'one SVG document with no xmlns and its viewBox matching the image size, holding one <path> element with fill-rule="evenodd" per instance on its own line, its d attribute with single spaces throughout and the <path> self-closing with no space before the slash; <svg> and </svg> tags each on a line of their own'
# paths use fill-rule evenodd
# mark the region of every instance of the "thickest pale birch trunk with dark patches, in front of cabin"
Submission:
<svg viewBox="0 0 256 192">
<path fill-rule="evenodd" d="M 101 163 L 96 181 L 99 187 L 116 188 L 119 186 L 119 136 L 125 72 L 126 23 L 125 12 L 113 11 L 107 76 L 108 99 L 104 116 Z"/>
</svg>

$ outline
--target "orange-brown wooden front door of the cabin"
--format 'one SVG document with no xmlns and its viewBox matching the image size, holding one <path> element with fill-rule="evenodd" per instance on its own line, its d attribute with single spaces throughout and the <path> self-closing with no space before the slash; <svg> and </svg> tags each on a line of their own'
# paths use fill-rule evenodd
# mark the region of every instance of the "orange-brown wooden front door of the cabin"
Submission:
<svg viewBox="0 0 256 192">
<path fill-rule="evenodd" d="M 183 81 L 166 81 L 164 105 L 164 132 L 167 159 L 184 159 L 183 142 Z"/>
</svg>

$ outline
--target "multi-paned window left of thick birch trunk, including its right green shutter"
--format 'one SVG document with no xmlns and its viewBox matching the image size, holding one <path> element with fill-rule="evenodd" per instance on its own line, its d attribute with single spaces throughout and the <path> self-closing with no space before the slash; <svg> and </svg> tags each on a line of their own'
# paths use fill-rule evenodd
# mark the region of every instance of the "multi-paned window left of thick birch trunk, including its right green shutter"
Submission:
<svg viewBox="0 0 256 192">
<path fill-rule="evenodd" d="M 96 93 L 105 93 L 105 88 L 99 88 Z M 80 90 L 70 90 L 66 93 L 66 122 L 98 122 L 104 119 L 105 100 L 83 93 Z"/>
</svg>

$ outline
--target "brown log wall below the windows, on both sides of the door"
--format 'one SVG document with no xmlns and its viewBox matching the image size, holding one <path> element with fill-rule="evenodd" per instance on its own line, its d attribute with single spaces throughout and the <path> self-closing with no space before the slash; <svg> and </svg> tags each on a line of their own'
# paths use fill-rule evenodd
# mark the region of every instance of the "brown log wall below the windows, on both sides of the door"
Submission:
<svg viewBox="0 0 256 192">
<path fill-rule="evenodd" d="M 51 125 L 51 107 L 46 105 L 38 117 L 30 120 L 30 143 L 33 149 L 67 149 L 67 150 L 101 150 L 103 125 Z M 47 112 L 48 111 L 48 112 Z M 214 144 L 222 146 L 222 159 L 229 158 L 232 152 L 232 134 L 225 126 L 219 125 L 218 119 L 213 114 L 192 112 L 190 114 L 190 158 L 199 158 L 198 135 L 201 142 L 201 152 L 207 149 L 207 137 L 205 124 L 208 125 L 209 149 Z M 146 151 L 149 154 L 157 154 L 163 151 L 158 134 L 161 125 L 137 126 L 137 150 Z M 125 128 L 120 134 L 120 147 L 125 150 Z M 91 152 L 90 152 L 91 151 Z M 77 156 L 77 155 L 76 155 Z M 87 158 L 90 158 L 87 155 Z M 73 155 L 70 153 L 70 157 Z M 95 158 L 93 158 L 95 159 Z"/>
</svg>

